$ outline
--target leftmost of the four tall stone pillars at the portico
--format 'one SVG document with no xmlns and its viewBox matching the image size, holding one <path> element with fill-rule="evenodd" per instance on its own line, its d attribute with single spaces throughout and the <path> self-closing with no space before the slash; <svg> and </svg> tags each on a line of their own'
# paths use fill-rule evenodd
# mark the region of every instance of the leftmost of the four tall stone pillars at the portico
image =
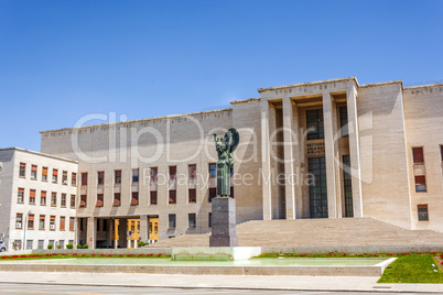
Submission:
<svg viewBox="0 0 443 295">
<path fill-rule="evenodd" d="M 270 132 L 269 132 L 269 102 L 262 99 L 261 102 L 261 163 L 262 171 L 259 177 L 262 184 L 263 196 L 263 220 L 272 219 L 271 199 L 271 155 L 270 155 Z"/>
</svg>

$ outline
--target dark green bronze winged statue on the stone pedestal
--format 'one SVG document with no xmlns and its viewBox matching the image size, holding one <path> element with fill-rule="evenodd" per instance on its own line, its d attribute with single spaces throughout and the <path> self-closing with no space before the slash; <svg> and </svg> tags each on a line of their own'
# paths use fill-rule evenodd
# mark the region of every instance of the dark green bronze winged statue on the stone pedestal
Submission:
<svg viewBox="0 0 443 295">
<path fill-rule="evenodd" d="M 217 138 L 214 133 L 215 148 L 218 154 L 217 162 L 217 196 L 230 196 L 230 170 L 234 164 L 233 152 L 237 149 L 240 135 L 235 128 L 229 129 L 225 136 Z"/>
</svg>

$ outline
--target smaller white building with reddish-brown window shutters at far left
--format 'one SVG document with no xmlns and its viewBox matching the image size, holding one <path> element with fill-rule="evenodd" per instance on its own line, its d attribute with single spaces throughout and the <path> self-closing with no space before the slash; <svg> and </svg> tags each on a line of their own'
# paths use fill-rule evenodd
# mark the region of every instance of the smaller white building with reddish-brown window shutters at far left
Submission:
<svg viewBox="0 0 443 295">
<path fill-rule="evenodd" d="M 0 232 L 8 250 L 75 243 L 77 162 L 0 150 Z"/>
</svg>

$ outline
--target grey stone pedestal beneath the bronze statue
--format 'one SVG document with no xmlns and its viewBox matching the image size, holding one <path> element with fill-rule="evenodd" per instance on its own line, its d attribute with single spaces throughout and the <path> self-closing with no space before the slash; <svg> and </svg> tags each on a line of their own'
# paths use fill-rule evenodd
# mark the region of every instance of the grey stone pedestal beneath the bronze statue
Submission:
<svg viewBox="0 0 443 295">
<path fill-rule="evenodd" d="M 237 247 L 236 200 L 230 197 L 213 198 L 213 232 L 209 247 Z"/>
</svg>

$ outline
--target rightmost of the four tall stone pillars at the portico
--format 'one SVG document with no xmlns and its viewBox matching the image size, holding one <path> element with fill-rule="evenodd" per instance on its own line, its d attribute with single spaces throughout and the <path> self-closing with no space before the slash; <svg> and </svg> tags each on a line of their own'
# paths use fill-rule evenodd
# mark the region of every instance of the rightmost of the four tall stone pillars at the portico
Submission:
<svg viewBox="0 0 443 295">
<path fill-rule="evenodd" d="M 354 84 L 354 83 L 353 83 Z M 347 118 L 349 130 L 349 159 L 353 186 L 353 206 L 354 217 L 363 217 L 363 198 L 361 198 L 361 171 L 360 171 L 360 145 L 358 138 L 357 121 L 357 90 L 353 85 L 346 94 L 347 100 Z"/>
</svg>

